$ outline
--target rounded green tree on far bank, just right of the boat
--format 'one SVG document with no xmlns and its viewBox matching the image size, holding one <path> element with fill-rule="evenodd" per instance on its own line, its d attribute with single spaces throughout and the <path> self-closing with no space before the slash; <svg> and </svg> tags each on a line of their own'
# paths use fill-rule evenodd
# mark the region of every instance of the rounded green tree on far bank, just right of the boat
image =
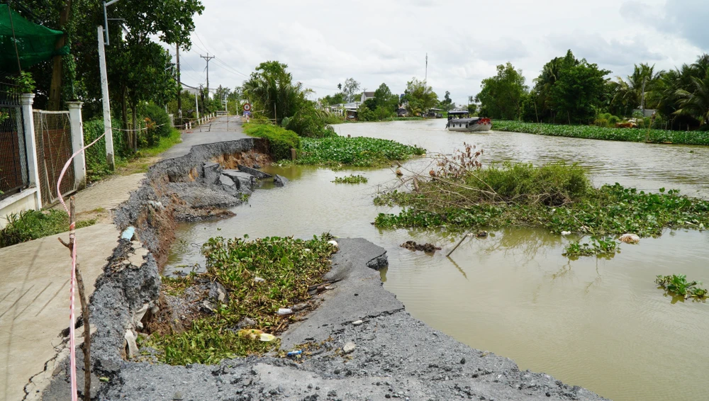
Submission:
<svg viewBox="0 0 709 401">
<path fill-rule="evenodd" d="M 521 69 L 511 63 L 497 66 L 497 75 L 484 79 L 481 91 L 475 97 L 481 103 L 480 115 L 503 120 L 520 117 L 522 101 L 527 92 Z"/>
</svg>

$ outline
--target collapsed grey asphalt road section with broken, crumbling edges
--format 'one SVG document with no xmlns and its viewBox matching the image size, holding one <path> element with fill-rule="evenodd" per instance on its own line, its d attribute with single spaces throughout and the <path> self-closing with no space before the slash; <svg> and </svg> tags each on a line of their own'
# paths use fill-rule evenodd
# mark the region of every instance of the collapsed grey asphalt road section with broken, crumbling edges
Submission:
<svg viewBox="0 0 709 401">
<path fill-rule="evenodd" d="M 299 356 L 186 366 L 140 361 L 136 339 L 159 312 L 160 266 L 174 225 L 230 215 L 223 208 L 252 191 L 248 166 L 267 163 L 267 148 L 261 140 L 193 147 L 152 166 L 143 187 L 118 210 L 116 224 L 136 230 L 121 239 L 91 297 L 92 398 L 603 400 L 549 375 L 520 371 L 508 358 L 471 349 L 411 317 L 382 286 L 386 251 L 366 239 L 337 239 L 323 277 L 337 286 L 316 295 L 319 306 L 281 335 L 281 349 L 306 350 Z M 43 400 L 69 399 L 67 371 L 67 363 L 57 368 Z"/>
</svg>

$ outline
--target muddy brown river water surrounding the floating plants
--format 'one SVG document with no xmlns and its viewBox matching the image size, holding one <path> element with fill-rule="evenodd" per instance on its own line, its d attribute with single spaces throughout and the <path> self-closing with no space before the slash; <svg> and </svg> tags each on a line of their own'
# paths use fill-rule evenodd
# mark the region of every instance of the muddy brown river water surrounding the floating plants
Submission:
<svg viewBox="0 0 709 401">
<path fill-rule="evenodd" d="M 341 135 L 372 136 L 450 153 L 469 142 L 485 149 L 483 162 L 556 160 L 585 166 L 596 184 L 619 182 L 648 191 L 678 188 L 709 198 L 709 147 L 577 140 L 508 132 L 442 130 L 444 120 L 338 125 Z M 425 170 L 429 160 L 405 164 Z M 569 238 L 542 230 L 493 230 L 468 239 L 444 231 L 379 230 L 372 204 L 378 188 L 396 184 L 392 169 L 332 171 L 279 168 L 291 183 L 264 186 L 234 218 L 182 225 L 166 272 L 203 264 L 209 237 L 311 237 L 329 231 L 364 237 L 387 249 L 384 286 L 414 317 L 477 349 L 581 385 L 613 400 L 700 400 L 709 379 L 709 304 L 664 295 L 658 274 L 683 273 L 709 283 L 709 232 L 666 230 L 657 239 L 621 246 L 613 259 L 562 256 Z M 331 183 L 362 174 L 369 183 Z M 413 240 L 443 248 L 433 256 L 399 244 Z"/>
</svg>

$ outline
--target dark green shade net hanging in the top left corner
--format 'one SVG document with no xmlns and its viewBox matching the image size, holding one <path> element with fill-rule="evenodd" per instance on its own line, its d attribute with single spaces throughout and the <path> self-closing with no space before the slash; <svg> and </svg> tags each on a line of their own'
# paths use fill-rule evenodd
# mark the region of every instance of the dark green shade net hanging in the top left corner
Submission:
<svg viewBox="0 0 709 401">
<path fill-rule="evenodd" d="M 23 69 L 49 60 L 55 55 L 68 55 L 68 46 L 55 49 L 57 40 L 62 35 L 64 33 L 61 30 L 27 21 L 7 4 L 0 4 L 0 71 L 17 72 L 17 53 L 20 55 Z"/>
</svg>

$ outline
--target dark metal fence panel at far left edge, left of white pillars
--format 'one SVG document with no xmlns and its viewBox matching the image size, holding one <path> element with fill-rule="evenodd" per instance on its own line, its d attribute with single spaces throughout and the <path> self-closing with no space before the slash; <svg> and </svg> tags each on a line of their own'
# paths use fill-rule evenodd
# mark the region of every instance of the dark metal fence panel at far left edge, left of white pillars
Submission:
<svg viewBox="0 0 709 401">
<path fill-rule="evenodd" d="M 19 97 L 0 91 L 0 199 L 27 188 L 29 178 Z"/>
</svg>

